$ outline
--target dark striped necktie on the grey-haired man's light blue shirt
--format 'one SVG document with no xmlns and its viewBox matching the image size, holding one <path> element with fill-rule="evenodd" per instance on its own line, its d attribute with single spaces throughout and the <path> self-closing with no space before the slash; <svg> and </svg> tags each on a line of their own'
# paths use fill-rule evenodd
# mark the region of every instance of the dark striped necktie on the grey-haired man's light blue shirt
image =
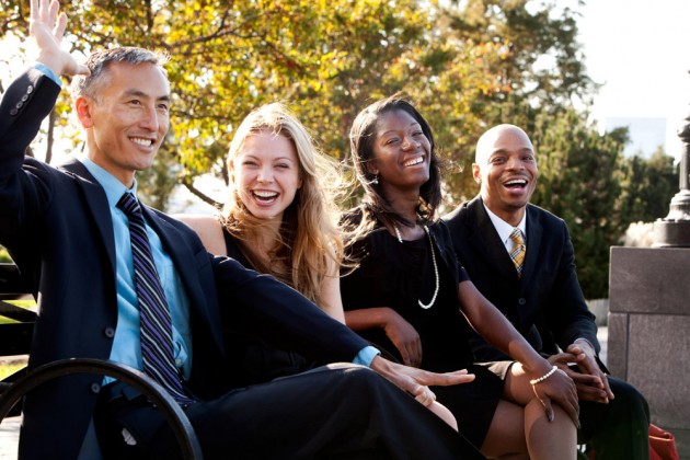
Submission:
<svg viewBox="0 0 690 460">
<path fill-rule="evenodd" d="M 117 207 L 129 219 L 135 285 L 141 323 L 143 370 L 165 388 L 177 403 L 187 405 L 192 403 L 192 399 L 184 394 L 180 370 L 175 366 L 172 347 L 172 320 L 151 255 L 141 207 L 137 198 L 130 193 L 125 193 L 119 198 Z"/>
</svg>

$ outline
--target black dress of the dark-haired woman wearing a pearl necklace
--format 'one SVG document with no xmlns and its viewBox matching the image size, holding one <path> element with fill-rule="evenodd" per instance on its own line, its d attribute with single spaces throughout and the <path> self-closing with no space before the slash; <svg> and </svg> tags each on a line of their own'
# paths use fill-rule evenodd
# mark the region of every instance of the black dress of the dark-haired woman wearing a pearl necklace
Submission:
<svg viewBox="0 0 690 460">
<path fill-rule="evenodd" d="M 346 219 L 357 221 L 359 210 Z M 422 341 L 422 369 L 446 372 L 468 369 L 476 376 L 471 383 L 434 387 L 437 400 L 458 419 L 460 433 L 481 447 L 503 392 L 503 380 L 473 364 L 474 357 L 463 333 L 465 320 L 460 312 L 458 284 L 467 280 L 457 262 L 446 223 L 429 226 L 434 241 L 439 291 L 428 309 L 436 288 L 436 274 L 429 253 L 429 238 L 403 241 L 381 226 L 348 248 L 358 262 L 355 271 L 343 272 L 341 294 L 345 310 L 390 307 L 412 324 Z M 402 363 L 395 346 L 381 329 L 360 332 L 365 338 L 384 348 Z"/>
</svg>

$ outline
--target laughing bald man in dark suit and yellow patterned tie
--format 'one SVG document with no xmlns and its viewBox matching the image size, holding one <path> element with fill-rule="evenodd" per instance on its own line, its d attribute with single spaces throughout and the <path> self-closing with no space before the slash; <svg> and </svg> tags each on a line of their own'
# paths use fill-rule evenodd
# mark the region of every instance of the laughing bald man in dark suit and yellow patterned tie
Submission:
<svg viewBox="0 0 690 460">
<path fill-rule="evenodd" d="M 599 360 L 595 317 L 577 280 L 567 227 L 529 204 L 539 175 L 529 137 L 513 125 L 487 130 L 472 172 L 479 196 L 444 217 L 460 263 L 531 345 L 575 380 L 579 438 L 593 441 L 597 459 L 648 458 L 647 403 L 632 386 L 608 376 Z M 521 241 L 516 243 L 514 232 Z M 473 349 L 478 360 L 508 359 L 476 334 Z"/>
</svg>

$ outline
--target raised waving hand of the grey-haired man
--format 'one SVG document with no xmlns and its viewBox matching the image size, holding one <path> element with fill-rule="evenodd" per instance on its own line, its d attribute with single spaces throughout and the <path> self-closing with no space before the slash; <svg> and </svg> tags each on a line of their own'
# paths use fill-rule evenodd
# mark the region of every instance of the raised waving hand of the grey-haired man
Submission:
<svg viewBox="0 0 690 460">
<path fill-rule="evenodd" d="M 65 13 L 58 15 L 59 9 L 57 0 L 49 3 L 48 0 L 31 0 L 28 31 L 38 46 L 36 61 L 47 66 L 58 76 L 88 76 L 89 68 L 77 64 L 74 58 L 60 47 L 67 26 L 67 15 Z"/>
</svg>

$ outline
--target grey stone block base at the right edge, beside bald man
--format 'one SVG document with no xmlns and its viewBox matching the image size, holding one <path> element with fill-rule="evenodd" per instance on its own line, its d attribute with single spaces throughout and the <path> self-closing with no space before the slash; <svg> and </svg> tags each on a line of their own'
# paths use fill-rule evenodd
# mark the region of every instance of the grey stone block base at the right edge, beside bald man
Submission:
<svg viewBox="0 0 690 460">
<path fill-rule="evenodd" d="M 690 248 L 611 248 L 608 367 L 690 458 Z"/>
</svg>

